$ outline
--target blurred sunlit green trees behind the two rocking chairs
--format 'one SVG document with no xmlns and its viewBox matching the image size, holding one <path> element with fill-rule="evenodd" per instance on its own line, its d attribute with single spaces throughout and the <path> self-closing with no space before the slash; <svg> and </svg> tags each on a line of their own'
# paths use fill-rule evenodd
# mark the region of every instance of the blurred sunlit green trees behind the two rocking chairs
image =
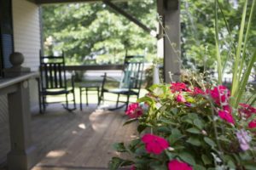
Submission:
<svg viewBox="0 0 256 170">
<path fill-rule="evenodd" d="M 116 5 L 155 30 L 153 0 Z M 128 54 L 144 54 L 147 48 L 148 59 L 156 53 L 154 37 L 104 3 L 47 5 L 43 7 L 43 21 L 44 40 L 53 37 L 53 50 L 64 51 L 70 64 L 90 64 L 88 60 L 122 63 L 126 50 Z M 49 53 L 49 48 L 45 49 Z"/>
</svg>

